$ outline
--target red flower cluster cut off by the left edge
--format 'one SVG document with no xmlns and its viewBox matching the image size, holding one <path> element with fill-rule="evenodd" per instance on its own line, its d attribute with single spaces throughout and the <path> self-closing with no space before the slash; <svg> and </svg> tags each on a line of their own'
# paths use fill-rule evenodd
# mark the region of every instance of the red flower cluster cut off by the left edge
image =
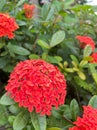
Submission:
<svg viewBox="0 0 97 130">
<path fill-rule="evenodd" d="M 14 37 L 14 31 L 19 27 L 15 19 L 8 14 L 0 13 L 0 37 L 8 36 L 9 39 Z"/>
</svg>

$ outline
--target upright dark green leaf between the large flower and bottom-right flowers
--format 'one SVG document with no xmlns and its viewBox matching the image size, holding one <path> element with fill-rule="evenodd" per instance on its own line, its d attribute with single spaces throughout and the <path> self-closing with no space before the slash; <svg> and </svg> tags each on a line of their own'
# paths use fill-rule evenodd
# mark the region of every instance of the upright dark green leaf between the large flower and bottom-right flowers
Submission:
<svg viewBox="0 0 97 130">
<path fill-rule="evenodd" d="M 70 103 L 70 111 L 72 114 L 72 120 L 75 121 L 79 115 L 79 105 L 75 99 L 73 99 Z"/>
</svg>

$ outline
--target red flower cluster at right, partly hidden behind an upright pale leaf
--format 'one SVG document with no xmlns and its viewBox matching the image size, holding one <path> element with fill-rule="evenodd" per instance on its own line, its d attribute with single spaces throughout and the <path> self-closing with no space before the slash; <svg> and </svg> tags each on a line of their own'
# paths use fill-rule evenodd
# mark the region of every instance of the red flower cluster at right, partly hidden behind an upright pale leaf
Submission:
<svg viewBox="0 0 97 130">
<path fill-rule="evenodd" d="M 90 45 L 92 50 L 95 49 L 95 43 L 92 38 L 88 36 L 76 36 L 76 39 L 80 41 L 80 47 L 85 48 L 86 45 Z"/>
</svg>

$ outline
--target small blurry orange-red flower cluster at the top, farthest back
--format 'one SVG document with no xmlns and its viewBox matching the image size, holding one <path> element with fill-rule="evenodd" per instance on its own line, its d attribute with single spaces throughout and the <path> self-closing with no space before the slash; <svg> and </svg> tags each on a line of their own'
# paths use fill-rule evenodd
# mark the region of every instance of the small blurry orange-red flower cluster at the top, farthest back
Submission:
<svg viewBox="0 0 97 130">
<path fill-rule="evenodd" d="M 23 6 L 23 9 L 24 9 L 26 18 L 30 19 L 33 17 L 35 5 L 33 5 L 33 4 L 29 5 L 29 4 L 25 3 Z"/>
</svg>

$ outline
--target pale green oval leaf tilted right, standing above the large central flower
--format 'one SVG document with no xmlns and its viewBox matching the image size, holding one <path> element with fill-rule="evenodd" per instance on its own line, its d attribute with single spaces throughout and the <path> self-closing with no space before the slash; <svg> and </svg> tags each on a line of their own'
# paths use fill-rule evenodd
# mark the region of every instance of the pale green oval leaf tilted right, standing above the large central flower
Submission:
<svg viewBox="0 0 97 130">
<path fill-rule="evenodd" d="M 61 43 L 64 40 L 64 38 L 65 38 L 64 31 L 60 30 L 60 31 L 54 33 L 51 38 L 50 47 L 54 47 L 54 46 L 58 45 L 59 43 Z"/>
</svg>

